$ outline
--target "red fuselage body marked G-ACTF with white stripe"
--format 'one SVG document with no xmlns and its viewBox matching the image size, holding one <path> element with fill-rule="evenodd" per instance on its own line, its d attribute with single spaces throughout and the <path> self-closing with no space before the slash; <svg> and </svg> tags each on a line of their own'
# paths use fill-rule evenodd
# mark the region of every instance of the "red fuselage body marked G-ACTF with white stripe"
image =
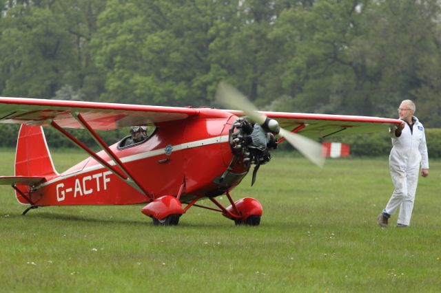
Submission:
<svg viewBox="0 0 441 293">
<path fill-rule="evenodd" d="M 236 119 L 226 111 L 201 109 L 198 116 L 157 123 L 154 133 L 141 144 L 119 149 L 117 143 L 110 149 L 154 198 L 176 197 L 182 186 L 181 202 L 189 202 L 194 197 L 215 197 L 236 186 L 249 169 L 238 162 L 228 180 L 218 180 L 228 166 L 232 167 L 229 129 Z M 98 155 L 112 164 L 104 151 Z M 150 201 L 93 158 L 42 184 L 32 193 L 32 200 L 38 206 Z"/>
</svg>

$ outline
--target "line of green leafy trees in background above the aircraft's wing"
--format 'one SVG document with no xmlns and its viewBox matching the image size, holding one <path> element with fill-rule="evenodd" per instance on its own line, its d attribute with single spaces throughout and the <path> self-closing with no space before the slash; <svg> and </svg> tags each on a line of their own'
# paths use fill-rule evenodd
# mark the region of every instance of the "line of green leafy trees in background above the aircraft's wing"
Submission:
<svg viewBox="0 0 441 293">
<path fill-rule="evenodd" d="M 260 109 L 441 127 L 437 0 L 0 0 L 0 95 Z"/>
</svg>

